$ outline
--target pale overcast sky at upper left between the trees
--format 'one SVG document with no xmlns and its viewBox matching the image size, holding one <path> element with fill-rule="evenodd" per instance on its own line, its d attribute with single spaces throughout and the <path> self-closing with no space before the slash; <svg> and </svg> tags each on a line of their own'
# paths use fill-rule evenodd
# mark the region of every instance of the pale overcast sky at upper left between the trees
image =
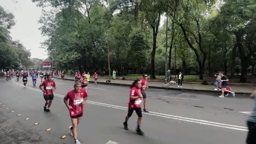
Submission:
<svg viewBox="0 0 256 144">
<path fill-rule="evenodd" d="M 36 7 L 32 0 L 0 0 L 0 5 L 15 16 L 16 24 L 10 29 L 13 40 L 20 40 L 30 50 L 31 58 L 47 58 L 45 49 L 40 48 L 45 39 L 38 29 L 41 8 Z"/>
</svg>

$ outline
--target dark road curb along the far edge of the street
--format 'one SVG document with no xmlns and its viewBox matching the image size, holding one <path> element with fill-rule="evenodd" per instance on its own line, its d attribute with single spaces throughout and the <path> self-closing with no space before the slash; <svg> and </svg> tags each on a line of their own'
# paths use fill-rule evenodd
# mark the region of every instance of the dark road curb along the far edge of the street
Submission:
<svg viewBox="0 0 256 144">
<path fill-rule="evenodd" d="M 59 77 L 54 77 L 55 79 L 61 79 Z M 68 81 L 74 81 L 71 79 L 64 79 Z M 93 83 L 92 81 L 89 81 L 90 83 Z M 111 83 L 111 82 L 97 82 L 97 83 L 103 83 L 105 85 L 113 85 L 113 86 L 131 86 L 126 83 Z M 191 91 L 191 92 L 207 92 L 207 93 L 220 93 L 219 91 L 212 91 L 212 90 L 206 90 L 206 89 L 190 89 L 190 88 L 175 88 L 175 87 L 156 87 L 156 86 L 150 86 L 150 88 L 157 88 L 157 89 L 168 89 L 168 90 L 174 90 L 174 91 Z M 236 94 L 251 94 L 246 92 L 236 92 Z"/>
</svg>

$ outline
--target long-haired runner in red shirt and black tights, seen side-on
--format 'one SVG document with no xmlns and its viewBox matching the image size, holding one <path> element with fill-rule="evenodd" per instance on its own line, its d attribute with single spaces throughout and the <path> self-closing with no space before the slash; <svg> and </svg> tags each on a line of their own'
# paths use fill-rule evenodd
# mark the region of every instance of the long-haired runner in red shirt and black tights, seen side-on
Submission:
<svg viewBox="0 0 256 144">
<path fill-rule="evenodd" d="M 128 130 L 128 124 L 127 121 L 132 115 L 132 112 L 135 110 L 135 112 L 138 115 L 137 120 L 137 133 L 139 135 L 144 135 L 143 131 L 140 129 L 141 121 L 142 121 L 142 111 L 141 111 L 141 102 L 142 102 L 142 93 L 141 93 L 141 80 L 135 80 L 131 85 L 131 91 L 130 91 L 130 101 L 128 106 L 128 114 L 125 117 L 124 129 Z"/>
</svg>

